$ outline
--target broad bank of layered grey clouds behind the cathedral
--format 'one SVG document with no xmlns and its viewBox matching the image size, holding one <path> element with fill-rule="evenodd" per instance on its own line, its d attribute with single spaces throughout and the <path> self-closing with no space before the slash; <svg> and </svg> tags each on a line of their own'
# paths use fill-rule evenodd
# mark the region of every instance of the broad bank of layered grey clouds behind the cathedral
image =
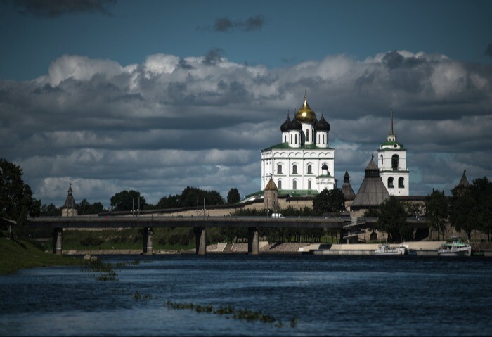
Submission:
<svg viewBox="0 0 492 337">
<path fill-rule="evenodd" d="M 410 193 L 449 193 L 464 169 L 491 177 L 491 83 L 492 65 L 409 51 L 284 68 L 234 63 L 220 49 L 132 65 L 64 55 L 37 79 L 0 80 L 0 153 L 44 203 L 61 205 L 70 182 L 79 200 L 105 205 L 122 189 L 151 203 L 186 186 L 244 196 L 260 189 L 259 149 L 280 143 L 306 90 L 330 122 L 339 182 L 348 170 L 358 190 L 394 110 Z"/>
</svg>

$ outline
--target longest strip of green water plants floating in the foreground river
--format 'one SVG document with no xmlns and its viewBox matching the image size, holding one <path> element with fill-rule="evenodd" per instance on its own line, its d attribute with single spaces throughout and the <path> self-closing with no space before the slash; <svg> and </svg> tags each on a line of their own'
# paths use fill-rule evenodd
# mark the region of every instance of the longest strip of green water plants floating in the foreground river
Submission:
<svg viewBox="0 0 492 337">
<path fill-rule="evenodd" d="M 248 322 L 259 321 L 259 322 L 270 323 L 270 324 L 276 322 L 275 324 L 276 327 L 278 328 L 282 327 L 282 322 L 280 321 L 280 319 L 276 319 L 275 317 L 269 314 L 264 314 L 261 311 L 235 309 L 235 307 L 233 307 L 232 305 L 228 305 L 226 307 L 220 306 L 219 308 L 214 309 L 212 305 L 200 305 L 200 304 L 195 305 L 193 303 L 177 303 L 168 300 L 167 307 L 169 309 L 176 309 L 176 310 L 187 309 L 187 310 L 195 310 L 195 312 L 226 314 L 226 315 L 231 315 L 233 319 L 246 319 Z M 290 327 L 295 328 L 296 326 L 297 326 L 297 317 L 292 317 L 292 319 L 290 319 Z"/>
</svg>

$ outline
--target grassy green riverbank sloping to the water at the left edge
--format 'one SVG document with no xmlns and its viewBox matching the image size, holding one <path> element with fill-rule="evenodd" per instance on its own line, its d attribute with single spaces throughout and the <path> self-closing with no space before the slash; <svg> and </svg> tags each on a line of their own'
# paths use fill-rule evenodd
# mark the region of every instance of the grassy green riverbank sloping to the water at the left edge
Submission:
<svg viewBox="0 0 492 337">
<path fill-rule="evenodd" d="M 0 274 L 11 274 L 18 269 L 32 267 L 80 265 L 81 262 L 80 258 L 45 253 L 29 241 L 0 238 Z"/>
</svg>

